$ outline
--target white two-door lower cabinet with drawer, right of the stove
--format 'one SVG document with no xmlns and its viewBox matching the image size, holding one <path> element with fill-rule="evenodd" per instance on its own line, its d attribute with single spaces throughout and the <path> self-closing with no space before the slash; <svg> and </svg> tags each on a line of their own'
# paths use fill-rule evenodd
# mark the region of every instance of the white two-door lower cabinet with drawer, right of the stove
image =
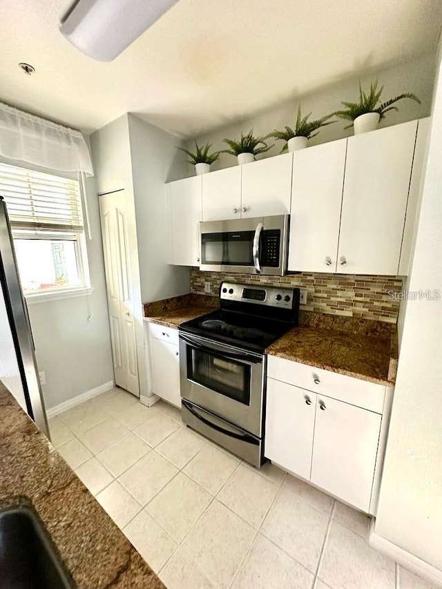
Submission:
<svg viewBox="0 0 442 589">
<path fill-rule="evenodd" d="M 296 375 L 313 367 L 275 356 L 269 356 L 267 363 L 266 458 L 345 503 L 375 514 L 392 389 L 329 373 L 334 377 L 333 387 L 327 388 L 338 397 L 332 398 L 296 386 L 300 384 Z M 342 395 L 339 378 L 345 385 Z M 322 380 L 316 378 L 316 383 Z M 361 400 L 361 386 L 365 385 L 374 387 L 374 396 L 385 399 L 376 401 L 379 413 L 352 403 L 349 380 L 354 381 L 354 403 Z"/>
</svg>

